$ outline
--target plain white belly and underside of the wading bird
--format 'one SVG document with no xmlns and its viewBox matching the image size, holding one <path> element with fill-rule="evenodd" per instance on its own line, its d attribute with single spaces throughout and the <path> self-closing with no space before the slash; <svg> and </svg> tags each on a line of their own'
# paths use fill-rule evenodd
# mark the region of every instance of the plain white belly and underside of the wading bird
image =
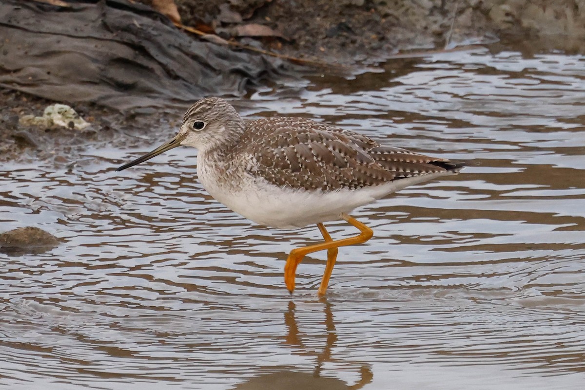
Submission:
<svg viewBox="0 0 585 390">
<path fill-rule="evenodd" d="M 409 177 L 380 186 L 357 190 L 307 191 L 277 187 L 264 179 L 245 177 L 239 186 L 230 186 L 208 169 L 199 170 L 199 180 L 219 202 L 256 222 L 278 229 L 302 228 L 311 224 L 340 220 L 340 214 L 372 203 L 411 184 L 426 182 L 445 173 Z M 214 180 L 215 179 L 215 180 Z"/>
</svg>

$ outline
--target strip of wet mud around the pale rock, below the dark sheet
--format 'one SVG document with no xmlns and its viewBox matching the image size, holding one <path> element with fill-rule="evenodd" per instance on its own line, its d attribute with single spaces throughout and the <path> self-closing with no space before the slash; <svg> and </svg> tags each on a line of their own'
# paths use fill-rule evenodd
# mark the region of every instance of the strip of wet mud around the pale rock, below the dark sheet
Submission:
<svg viewBox="0 0 585 390">
<path fill-rule="evenodd" d="M 32 126 L 19 123 L 23 116 L 42 116 L 43 110 L 55 103 L 27 93 L 0 89 L 0 163 L 44 161 L 55 168 L 73 167 L 87 145 L 128 145 L 140 141 L 137 136 L 145 128 L 156 131 L 173 126 L 179 112 L 121 113 L 95 105 L 73 105 L 75 111 L 90 123 L 84 130 L 60 126 Z"/>
</svg>

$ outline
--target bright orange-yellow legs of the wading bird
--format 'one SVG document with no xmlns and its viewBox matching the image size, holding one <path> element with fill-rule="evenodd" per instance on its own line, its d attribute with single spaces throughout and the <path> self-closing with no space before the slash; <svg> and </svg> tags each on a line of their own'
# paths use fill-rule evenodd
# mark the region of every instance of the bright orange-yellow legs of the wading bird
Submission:
<svg viewBox="0 0 585 390">
<path fill-rule="evenodd" d="M 303 248 L 295 248 L 291 250 L 290 255 L 288 255 L 287 263 L 284 266 L 284 282 L 287 285 L 288 292 L 292 294 L 294 290 L 294 277 L 295 272 L 297 271 L 298 264 L 302 261 L 303 257 L 308 255 L 309 253 L 318 252 L 319 250 L 327 249 L 327 267 L 325 269 L 325 274 L 323 275 L 323 280 L 321 281 L 321 287 L 319 287 L 319 294 L 325 294 L 325 290 L 327 288 L 327 284 L 329 283 L 329 276 L 331 276 L 331 271 L 333 270 L 333 266 L 335 265 L 335 257 L 337 257 L 337 248 L 340 246 L 347 246 L 347 245 L 354 245 L 356 243 L 363 243 L 368 241 L 371 236 L 374 234 L 372 229 L 367 227 L 366 225 L 362 224 L 362 222 L 357 221 L 355 218 L 350 217 L 347 214 L 342 214 L 341 217 L 343 220 L 349 222 L 357 229 L 359 229 L 360 234 L 355 237 L 344 238 L 337 241 L 331 240 L 329 234 L 325 236 L 325 227 L 319 229 L 325 238 L 325 242 L 318 243 L 315 245 L 304 246 Z M 324 233 L 325 231 L 325 233 Z M 329 241 L 331 240 L 331 241 Z M 329 249 L 333 249 L 333 251 L 329 251 Z M 330 262 L 329 260 L 333 257 L 333 261 Z M 330 264 L 331 263 L 331 264 Z M 330 269 L 331 268 L 331 269 Z M 329 273 L 328 273 L 329 272 Z M 326 279 L 325 279 L 326 278 Z"/>
</svg>

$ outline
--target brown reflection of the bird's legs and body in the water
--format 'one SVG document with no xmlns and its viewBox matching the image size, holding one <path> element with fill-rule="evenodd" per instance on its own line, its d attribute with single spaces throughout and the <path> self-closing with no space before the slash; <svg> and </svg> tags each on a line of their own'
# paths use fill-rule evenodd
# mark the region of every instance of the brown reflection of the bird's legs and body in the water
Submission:
<svg viewBox="0 0 585 390">
<path fill-rule="evenodd" d="M 290 370 L 282 370 L 271 372 L 270 374 L 259 375 L 249 381 L 243 382 L 235 386 L 232 390 L 358 390 L 363 386 L 370 384 L 373 379 L 373 374 L 368 365 L 363 363 L 356 363 L 359 366 L 360 379 L 353 385 L 347 385 L 338 378 L 325 377 L 322 375 L 322 365 L 324 363 L 335 362 L 336 359 L 331 356 L 331 351 L 337 335 L 335 333 L 335 322 L 333 322 L 333 313 L 331 304 L 325 304 L 325 326 L 327 328 L 327 339 L 325 347 L 316 356 L 316 367 L 312 374 L 307 372 L 294 371 L 294 367 Z M 295 317 L 295 304 L 288 302 L 288 312 L 284 315 L 284 323 L 287 326 L 288 335 L 286 343 L 297 346 L 302 354 L 313 354 L 300 342 L 300 332 L 298 330 L 297 319 Z M 342 362 L 347 365 L 347 361 Z M 273 371 L 274 368 L 267 367 L 264 371 Z"/>
</svg>

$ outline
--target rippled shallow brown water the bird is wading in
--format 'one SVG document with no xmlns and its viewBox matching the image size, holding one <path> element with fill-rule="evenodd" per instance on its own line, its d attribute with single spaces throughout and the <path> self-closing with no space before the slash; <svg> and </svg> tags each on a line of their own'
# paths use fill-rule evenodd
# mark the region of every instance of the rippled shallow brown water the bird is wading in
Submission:
<svg viewBox="0 0 585 390">
<path fill-rule="evenodd" d="M 374 229 L 283 266 L 315 227 L 265 229 L 216 203 L 197 151 L 115 172 L 168 134 L 0 172 L 1 230 L 63 239 L 0 254 L 0 387 L 577 389 L 585 383 L 585 57 L 486 49 L 254 93 L 307 116 L 480 165 L 354 215 Z M 334 238 L 354 234 L 328 224 Z"/>
</svg>

